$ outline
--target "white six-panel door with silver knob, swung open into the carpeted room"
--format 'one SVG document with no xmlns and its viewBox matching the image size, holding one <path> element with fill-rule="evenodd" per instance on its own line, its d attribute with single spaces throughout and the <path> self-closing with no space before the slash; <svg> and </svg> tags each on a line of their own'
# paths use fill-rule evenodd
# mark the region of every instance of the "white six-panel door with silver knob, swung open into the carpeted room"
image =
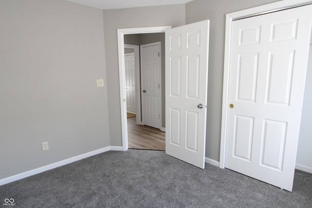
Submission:
<svg viewBox="0 0 312 208">
<path fill-rule="evenodd" d="M 166 30 L 166 153 L 205 167 L 209 20 Z"/>
</svg>

